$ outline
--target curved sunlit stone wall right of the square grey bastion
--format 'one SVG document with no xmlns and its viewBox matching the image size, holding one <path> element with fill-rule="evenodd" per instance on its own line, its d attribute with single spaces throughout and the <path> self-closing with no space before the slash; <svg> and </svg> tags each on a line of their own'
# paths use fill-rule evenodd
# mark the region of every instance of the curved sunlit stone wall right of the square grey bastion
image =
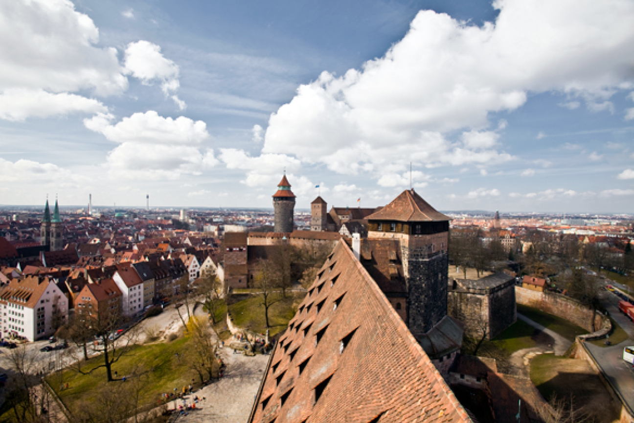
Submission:
<svg viewBox="0 0 634 423">
<path fill-rule="evenodd" d="M 603 316 L 600 313 L 594 313 L 578 301 L 560 294 L 537 292 L 516 286 L 515 301 L 517 301 L 517 304 L 534 307 L 546 313 L 559 316 L 583 327 L 588 332 L 594 332 L 595 329 L 603 326 Z"/>
</svg>

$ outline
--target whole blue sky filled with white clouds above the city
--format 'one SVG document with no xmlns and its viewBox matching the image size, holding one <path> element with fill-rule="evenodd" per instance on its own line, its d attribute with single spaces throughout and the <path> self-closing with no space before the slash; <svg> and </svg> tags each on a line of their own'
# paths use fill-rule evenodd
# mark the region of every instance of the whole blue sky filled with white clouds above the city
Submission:
<svg viewBox="0 0 634 423">
<path fill-rule="evenodd" d="M 0 2 L 0 204 L 271 207 L 286 172 L 298 209 L 411 180 L 444 211 L 632 213 L 632 22 L 632 0 Z"/>
</svg>

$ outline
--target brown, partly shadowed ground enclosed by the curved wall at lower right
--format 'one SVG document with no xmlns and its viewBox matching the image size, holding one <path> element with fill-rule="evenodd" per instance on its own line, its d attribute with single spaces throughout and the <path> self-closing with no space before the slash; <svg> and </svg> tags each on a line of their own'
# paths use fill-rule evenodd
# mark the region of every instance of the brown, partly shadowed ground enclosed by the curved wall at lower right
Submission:
<svg viewBox="0 0 634 423">
<path fill-rule="evenodd" d="M 572 401 L 575 408 L 592 413 L 597 422 L 618 420 L 618 407 L 604 384 L 585 360 L 543 354 L 531 360 L 531 380 L 550 400 L 553 395 Z"/>
</svg>

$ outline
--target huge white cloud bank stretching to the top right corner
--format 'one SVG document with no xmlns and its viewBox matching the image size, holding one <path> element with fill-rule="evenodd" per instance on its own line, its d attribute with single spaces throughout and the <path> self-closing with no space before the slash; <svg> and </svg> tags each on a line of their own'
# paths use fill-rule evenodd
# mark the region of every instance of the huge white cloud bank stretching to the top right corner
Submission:
<svg viewBox="0 0 634 423">
<path fill-rule="evenodd" d="M 410 160 L 505 162 L 513 157 L 486 131 L 489 112 L 515 110 L 527 94 L 546 91 L 605 109 L 630 78 L 634 4 L 500 0 L 494 7 L 496 22 L 481 27 L 421 11 L 382 58 L 300 86 L 271 115 L 262 152 L 378 178 L 389 173 L 385 164 L 403 171 Z M 455 139 L 455 131 L 474 136 Z"/>
</svg>

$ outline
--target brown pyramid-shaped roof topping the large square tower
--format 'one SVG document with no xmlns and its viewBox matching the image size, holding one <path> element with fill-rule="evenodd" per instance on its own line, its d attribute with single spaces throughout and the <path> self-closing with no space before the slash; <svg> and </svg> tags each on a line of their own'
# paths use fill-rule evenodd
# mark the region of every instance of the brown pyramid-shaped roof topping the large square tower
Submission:
<svg viewBox="0 0 634 423">
<path fill-rule="evenodd" d="M 450 220 L 448 216 L 436 211 L 414 190 L 403 191 L 390 204 L 371 214 L 366 219 L 368 221 L 391 220 L 400 222 L 439 222 Z"/>
</svg>

